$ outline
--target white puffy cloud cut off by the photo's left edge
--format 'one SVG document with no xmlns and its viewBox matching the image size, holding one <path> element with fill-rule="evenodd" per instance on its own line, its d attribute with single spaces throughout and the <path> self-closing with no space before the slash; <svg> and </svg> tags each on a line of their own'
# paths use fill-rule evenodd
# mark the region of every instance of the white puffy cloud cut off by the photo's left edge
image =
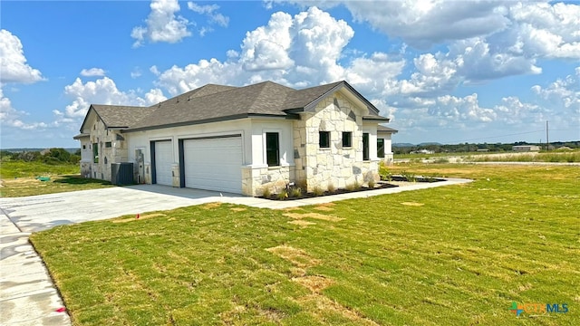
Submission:
<svg viewBox="0 0 580 326">
<path fill-rule="evenodd" d="M 0 58 L 0 82 L 43 81 L 42 73 L 26 63 L 20 39 L 5 29 L 0 30 Z"/>
</svg>

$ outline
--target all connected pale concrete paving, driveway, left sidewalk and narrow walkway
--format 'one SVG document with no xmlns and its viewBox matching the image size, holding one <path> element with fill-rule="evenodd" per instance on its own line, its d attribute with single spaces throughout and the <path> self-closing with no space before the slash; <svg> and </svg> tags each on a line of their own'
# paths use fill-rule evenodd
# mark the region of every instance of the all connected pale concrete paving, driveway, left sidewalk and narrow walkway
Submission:
<svg viewBox="0 0 580 326">
<path fill-rule="evenodd" d="M 0 325 L 70 325 L 63 300 L 34 248 L 33 232 L 123 215 L 143 214 L 182 206 L 222 202 L 261 208 L 284 209 L 333 201 L 393 194 L 468 183 L 448 178 L 372 191 L 272 201 L 189 188 L 139 185 L 83 190 L 34 197 L 0 198 Z"/>
</svg>

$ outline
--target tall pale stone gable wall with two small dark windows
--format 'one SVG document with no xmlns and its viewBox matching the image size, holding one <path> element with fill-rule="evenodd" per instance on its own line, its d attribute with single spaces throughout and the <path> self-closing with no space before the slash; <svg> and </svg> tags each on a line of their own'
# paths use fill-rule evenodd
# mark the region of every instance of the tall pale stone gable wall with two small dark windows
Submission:
<svg viewBox="0 0 580 326">
<path fill-rule="evenodd" d="M 336 92 L 294 121 L 295 181 L 314 187 L 343 188 L 378 179 L 377 162 L 362 161 L 362 116 L 351 101 Z M 329 149 L 319 148 L 319 131 L 330 131 Z M 343 148 L 343 131 L 352 132 L 352 147 Z"/>
</svg>

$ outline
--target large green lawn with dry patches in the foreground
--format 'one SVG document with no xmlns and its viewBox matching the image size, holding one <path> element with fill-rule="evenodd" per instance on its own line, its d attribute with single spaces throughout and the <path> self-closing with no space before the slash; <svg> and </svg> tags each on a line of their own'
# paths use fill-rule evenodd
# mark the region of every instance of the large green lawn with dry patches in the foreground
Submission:
<svg viewBox="0 0 580 326">
<path fill-rule="evenodd" d="M 580 169 L 275 211 L 209 204 L 34 234 L 76 325 L 575 325 Z M 517 318 L 512 302 L 566 303 Z M 533 314 L 533 313 L 532 313 Z"/>
</svg>

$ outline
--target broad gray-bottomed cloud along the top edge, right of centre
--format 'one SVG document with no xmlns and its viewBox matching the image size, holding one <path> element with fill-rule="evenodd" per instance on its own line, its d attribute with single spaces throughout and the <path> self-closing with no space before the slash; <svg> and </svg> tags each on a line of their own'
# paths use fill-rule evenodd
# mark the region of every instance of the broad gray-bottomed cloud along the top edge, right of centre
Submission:
<svg viewBox="0 0 580 326">
<path fill-rule="evenodd" d="M 507 28 L 508 8 L 501 1 L 270 1 L 323 8 L 343 4 L 359 22 L 417 48 L 493 34 Z"/>
</svg>

